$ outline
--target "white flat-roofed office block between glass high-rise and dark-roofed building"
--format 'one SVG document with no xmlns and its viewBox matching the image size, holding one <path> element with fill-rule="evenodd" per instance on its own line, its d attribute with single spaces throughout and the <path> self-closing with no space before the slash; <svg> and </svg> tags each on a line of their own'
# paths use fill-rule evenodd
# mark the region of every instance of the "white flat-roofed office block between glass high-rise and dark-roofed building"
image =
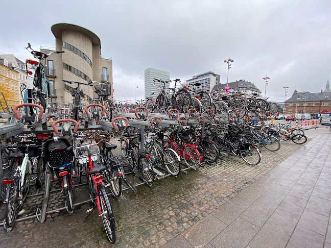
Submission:
<svg viewBox="0 0 331 248">
<path fill-rule="evenodd" d="M 220 75 L 216 74 L 214 71 L 207 71 L 192 77 L 192 79 L 186 80 L 186 87 L 188 90 L 193 92 L 195 89 L 195 84 L 200 83 L 197 86 L 197 91 L 199 90 L 211 90 L 216 85 L 220 84 Z"/>
</svg>

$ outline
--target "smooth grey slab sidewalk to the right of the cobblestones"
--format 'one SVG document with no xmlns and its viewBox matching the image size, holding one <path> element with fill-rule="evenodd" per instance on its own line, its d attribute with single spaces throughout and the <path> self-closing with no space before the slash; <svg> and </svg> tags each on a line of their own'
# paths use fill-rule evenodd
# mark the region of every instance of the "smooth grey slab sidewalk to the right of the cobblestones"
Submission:
<svg viewBox="0 0 331 248">
<path fill-rule="evenodd" d="M 314 137 L 162 247 L 331 247 L 331 135 Z"/>
</svg>

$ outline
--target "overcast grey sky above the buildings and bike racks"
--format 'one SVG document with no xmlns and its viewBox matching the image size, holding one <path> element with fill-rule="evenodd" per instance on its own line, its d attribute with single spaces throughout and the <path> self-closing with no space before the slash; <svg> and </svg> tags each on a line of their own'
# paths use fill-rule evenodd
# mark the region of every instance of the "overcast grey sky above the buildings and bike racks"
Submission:
<svg viewBox="0 0 331 248">
<path fill-rule="evenodd" d="M 113 59 L 115 98 L 144 98 L 144 70 L 187 80 L 205 71 L 226 83 L 253 82 L 273 101 L 298 91 L 319 92 L 331 79 L 330 0 L 243 1 L 6 1 L 1 11 L 0 53 L 26 59 L 23 49 L 55 46 L 51 26 L 68 22 L 101 39 Z M 7 28 L 6 28 L 7 27 Z M 36 49 L 36 48 L 35 48 Z M 1 55 L 1 54 L 0 54 Z"/>
</svg>

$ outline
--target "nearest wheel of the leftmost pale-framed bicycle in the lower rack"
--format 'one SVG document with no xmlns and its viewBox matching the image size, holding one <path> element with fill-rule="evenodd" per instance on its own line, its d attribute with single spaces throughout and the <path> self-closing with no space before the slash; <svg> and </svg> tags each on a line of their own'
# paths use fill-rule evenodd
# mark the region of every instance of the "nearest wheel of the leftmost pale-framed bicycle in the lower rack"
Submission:
<svg viewBox="0 0 331 248">
<path fill-rule="evenodd" d="M 18 212 L 18 180 L 15 180 L 14 183 L 8 184 L 6 190 L 6 203 L 5 207 L 5 228 L 12 228 L 16 219 Z"/>
</svg>

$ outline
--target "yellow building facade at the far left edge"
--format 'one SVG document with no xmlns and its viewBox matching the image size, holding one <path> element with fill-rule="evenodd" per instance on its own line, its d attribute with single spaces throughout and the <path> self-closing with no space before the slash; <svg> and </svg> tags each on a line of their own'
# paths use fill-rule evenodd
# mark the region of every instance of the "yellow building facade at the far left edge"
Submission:
<svg viewBox="0 0 331 248">
<path fill-rule="evenodd" d="M 0 92 L 2 92 L 2 94 L 0 93 L 0 102 L 2 105 L 0 111 L 5 112 L 8 111 L 7 106 L 13 108 L 19 104 L 19 73 L 11 69 L 11 66 L 12 64 L 8 63 L 6 59 L 0 59 Z"/>
</svg>

